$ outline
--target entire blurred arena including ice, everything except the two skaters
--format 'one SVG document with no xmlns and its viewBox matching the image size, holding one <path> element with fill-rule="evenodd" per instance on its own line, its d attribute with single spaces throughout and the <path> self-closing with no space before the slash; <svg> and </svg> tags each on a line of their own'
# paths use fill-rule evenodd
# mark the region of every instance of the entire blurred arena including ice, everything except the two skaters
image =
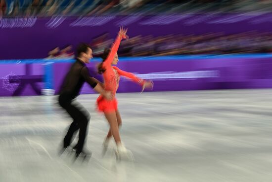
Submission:
<svg viewBox="0 0 272 182">
<path fill-rule="evenodd" d="M 122 140 L 105 158 L 91 113 L 88 164 L 56 155 L 70 118 L 56 105 L 81 42 L 93 77 L 120 26 Z M 0 182 L 271 182 L 272 0 L 0 0 Z"/>
</svg>

